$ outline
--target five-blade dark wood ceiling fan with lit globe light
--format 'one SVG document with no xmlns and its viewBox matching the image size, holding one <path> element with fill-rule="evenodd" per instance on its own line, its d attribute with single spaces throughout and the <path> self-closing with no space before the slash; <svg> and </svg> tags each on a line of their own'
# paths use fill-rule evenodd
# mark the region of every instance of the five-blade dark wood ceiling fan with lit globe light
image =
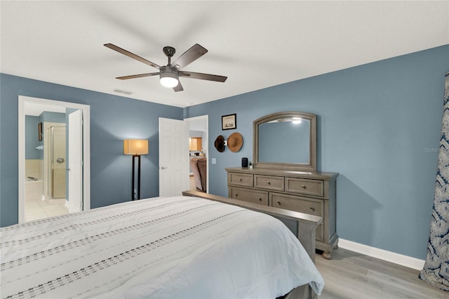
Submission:
<svg viewBox="0 0 449 299">
<path fill-rule="evenodd" d="M 214 74 L 203 74 L 196 72 L 185 72 L 180 70 L 182 69 L 182 67 L 186 67 L 187 65 L 194 62 L 195 60 L 197 60 L 202 55 L 208 52 L 206 48 L 200 46 L 199 44 L 195 44 L 194 46 L 192 46 L 192 48 L 189 48 L 189 50 L 185 51 L 185 53 L 180 55 L 180 57 L 177 58 L 177 60 L 175 60 L 174 62 L 171 62 L 171 58 L 176 52 L 175 48 L 170 46 L 163 47 L 163 53 L 168 57 L 168 64 L 162 67 L 160 65 L 156 65 L 156 63 L 154 62 L 146 60 L 145 58 L 141 58 L 140 56 L 135 55 L 134 53 L 130 53 L 129 51 L 126 51 L 125 49 L 115 46 L 113 44 L 105 44 L 105 47 L 110 48 L 119 53 L 122 53 L 130 58 L 134 58 L 135 60 L 143 62 L 147 65 L 151 65 L 156 69 L 159 69 L 159 72 L 116 77 L 116 79 L 126 80 L 126 79 L 159 75 L 161 84 L 165 87 L 173 88 L 174 91 L 184 90 L 184 88 L 182 88 L 181 82 L 179 81 L 179 77 L 217 81 L 217 82 L 225 82 L 227 79 L 227 77 L 225 76 L 219 76 Z"/>
</svg>

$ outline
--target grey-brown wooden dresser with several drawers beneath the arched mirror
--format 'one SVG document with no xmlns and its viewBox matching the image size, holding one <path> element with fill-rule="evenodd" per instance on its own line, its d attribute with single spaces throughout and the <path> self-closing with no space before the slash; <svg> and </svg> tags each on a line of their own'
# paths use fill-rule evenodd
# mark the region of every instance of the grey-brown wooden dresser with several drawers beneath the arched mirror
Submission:
<svg viewBox="0 0 449 299">
<path fill-rule="evenodd" d="M 337 247 L 335 227 L 338 173 L 302 172 L 269 168 L 226 168 L 228 197 L 264 206 L 321 216 L 316 228 L 316 249 L 332 258 Z"/>
</svg>

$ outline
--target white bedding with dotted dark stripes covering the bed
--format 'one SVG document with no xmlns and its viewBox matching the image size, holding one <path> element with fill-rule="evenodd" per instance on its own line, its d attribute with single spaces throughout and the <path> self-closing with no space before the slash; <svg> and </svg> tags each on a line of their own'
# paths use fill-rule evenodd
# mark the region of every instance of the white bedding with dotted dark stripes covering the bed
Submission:
<svg viewBox="0 0 449 299">
<path fill-rule="evenodd" d="M 157 197 L 0 229 L 1 298 L 276 298 L 323 278 L 269 215 Z"/>
</svg>

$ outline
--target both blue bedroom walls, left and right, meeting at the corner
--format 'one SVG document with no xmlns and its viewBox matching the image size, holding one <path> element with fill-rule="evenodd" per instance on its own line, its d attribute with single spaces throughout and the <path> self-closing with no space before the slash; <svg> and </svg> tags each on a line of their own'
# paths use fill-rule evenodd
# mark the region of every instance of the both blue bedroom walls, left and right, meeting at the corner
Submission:
<svg viewBox="0 0 449 299">
<path fill-rule="evenodd" d="M 337 233 L 343 239 L 424 259 L 434 197 L 449 46 L 373 62 L 185 108 L 0 74 L 0 225 L 17 222 L 18 95 L 91 105 L 92 207 L 130 197 L 123 139 L 149 139 L 142 197 L 159 194 L 158 118 L 209 115 L 210 193 L 227 196 L 225 167 L 253 156 L 253 120 L 281 111 L 317 114 L 318 169 L 335 171 Z M 236 130 L 221 117 L 237 114 Z M 240 152 L 217 152 L 238 131 Z M 210 159 L 209 159 L 210 161 Z"/>
</svg>

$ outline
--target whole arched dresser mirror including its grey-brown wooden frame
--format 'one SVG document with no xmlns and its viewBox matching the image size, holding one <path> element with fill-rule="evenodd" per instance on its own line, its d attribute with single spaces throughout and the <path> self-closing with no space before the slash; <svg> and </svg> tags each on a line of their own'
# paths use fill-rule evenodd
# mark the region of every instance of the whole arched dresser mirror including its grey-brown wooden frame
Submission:
<svg viewBox="0 0 449 299">
<path fill-rule="evenodd" d="M 253 121 L 256 168 L 316 171 L 316 115 L 277 112 Z"/>
</svg>

